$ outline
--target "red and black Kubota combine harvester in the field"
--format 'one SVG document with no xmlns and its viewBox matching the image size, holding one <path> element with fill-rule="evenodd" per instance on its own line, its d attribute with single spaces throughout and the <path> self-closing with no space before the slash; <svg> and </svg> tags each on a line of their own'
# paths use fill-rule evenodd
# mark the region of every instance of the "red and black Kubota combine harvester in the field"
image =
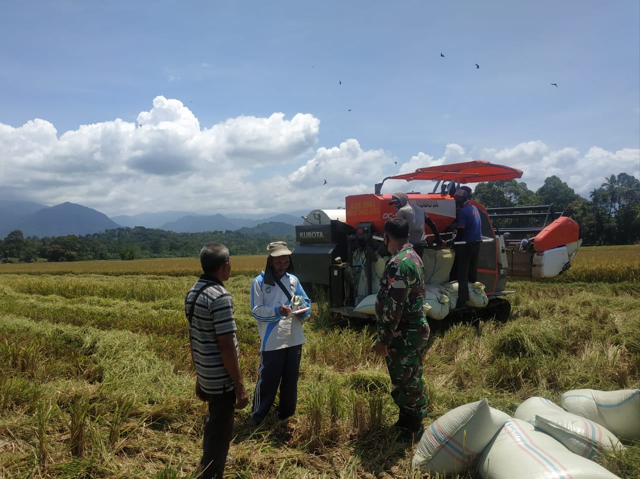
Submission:
<svg viewBox="0 0 640 479">
<path fill-rule="evenodd" d="M 407 192 L 408 198 L 424 208 L 444 239 L 451 239 L 456 221 L 453 194 L 460 185 L 520 177 L 519 169 L 486 161 L 419 168 L 387 177 L 375 185 L 374 193 L 347 196 L 344 210 L 318 209 L 303 216 L 304 223 L 296 226 L 292 254 L 296 275 L 308 292 L 328 294 L 334 318 L 374 318 L 371 304 L 388 259 L 382 245 L 383 224 L 396 214 L 388 204 L 392 192 L 381 192 L 386 180 L 435 182 L 431 193 Z M 513 293 L 505 290 L 507 280 L 550 278 L 566 271 L 582 242 L 579 228 L 572 219 L 555 213 L 552 205 L 486 209 L 474 200 L 471 203 L 481 213 L 477 280 L 488 301 L 481 308 L 447 309 L 445 315 L 447 320 L 507 320 L 511 305 L 504 297 Z M 428 244 L 422 258 L 428 292 L 451 288 L 454 249 Z M 427 317 L 433 315 L 427 313 Z"/>
</svg>

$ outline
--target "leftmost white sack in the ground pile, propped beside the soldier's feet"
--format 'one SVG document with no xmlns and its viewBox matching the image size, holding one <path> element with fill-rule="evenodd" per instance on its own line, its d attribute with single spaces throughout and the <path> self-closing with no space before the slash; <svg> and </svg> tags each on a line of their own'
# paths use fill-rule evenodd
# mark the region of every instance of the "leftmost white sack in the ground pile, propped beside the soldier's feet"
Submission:
<svg viewBox="0 0 640 479">
<path fill-rule="evenodd" d="M 510 418 L 485 399 L 461 405 L 431 423 L 422 434 L 412 466 L 435 475 L 464 473 Z"/>
</svg>

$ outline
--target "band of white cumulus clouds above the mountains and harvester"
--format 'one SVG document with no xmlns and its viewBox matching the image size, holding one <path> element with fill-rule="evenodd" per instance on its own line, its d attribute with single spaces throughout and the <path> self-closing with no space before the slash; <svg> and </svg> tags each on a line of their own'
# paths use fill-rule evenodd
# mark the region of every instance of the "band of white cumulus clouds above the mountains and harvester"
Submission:
<svg viewBox="0 0 640 479">
<path fill-rule="evenodd" d="M 390 175 L 472 159 L 456 143 L 407 161 L 364 149 L 354 138 L 316 147 L 319 132 L 320 120 L 308 113 L 239 116 L 202 127 L 182 102 L 164 97 L 154 98 L 136 122 L 116 118 L 61 136 L 38 118 L 20 127 L 0 123 L 0 195 L 45 205 L 72 201 L 109 216 L 273 214 L 335 208 L 349 194 L 373 192 Z M 640 178 L 637 148 L 580 152 L 535 140 L 478 151 L 475 159 L 522 169 L 520 181 L 532 191 L 556 175 L 588 198 L 609 175 Z M 433 184 L 388 180 L 383 192 L 398 189 L 430 192 Z"/>
</svg>

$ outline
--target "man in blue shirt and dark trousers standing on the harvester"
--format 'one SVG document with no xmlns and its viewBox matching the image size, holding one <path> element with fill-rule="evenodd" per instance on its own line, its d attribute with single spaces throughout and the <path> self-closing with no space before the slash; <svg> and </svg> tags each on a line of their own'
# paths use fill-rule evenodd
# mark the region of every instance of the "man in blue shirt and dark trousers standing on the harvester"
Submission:
<svg viewBox="0 0 640 479">
<path fill-rule="evenodd" d="M 465 307 L 469 299 L 467 281 L 477 281 L 478 254 L 482 240 L 482 225 L 478 208 L 469 203 L 469 194 L 464 189 L 457 190 L 453 195 L 456 200 L 458 214 L 458 229 L 455 241 L 464 241 L 465 244 L 456 245 L 456 258 L 451 269 L 453 279 L 458 279 L 458 302 L 456 308 Z"/>
</svg>

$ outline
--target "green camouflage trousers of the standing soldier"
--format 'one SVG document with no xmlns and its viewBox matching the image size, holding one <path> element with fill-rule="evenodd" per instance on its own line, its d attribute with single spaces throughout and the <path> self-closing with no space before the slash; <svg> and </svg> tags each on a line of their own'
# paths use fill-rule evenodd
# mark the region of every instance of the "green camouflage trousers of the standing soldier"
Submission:
<svg viewBox="0 0 640 479">
<path fill-rule="evenodd" d="M 394 388 L 391 397 L 400 412 L 415 418 L 427 415 L 427 397 L 424 395 L 422 369 L 426 346 L 415 347 L 392 343 L 388 350 L 387 369 Z"/>
</svg>

